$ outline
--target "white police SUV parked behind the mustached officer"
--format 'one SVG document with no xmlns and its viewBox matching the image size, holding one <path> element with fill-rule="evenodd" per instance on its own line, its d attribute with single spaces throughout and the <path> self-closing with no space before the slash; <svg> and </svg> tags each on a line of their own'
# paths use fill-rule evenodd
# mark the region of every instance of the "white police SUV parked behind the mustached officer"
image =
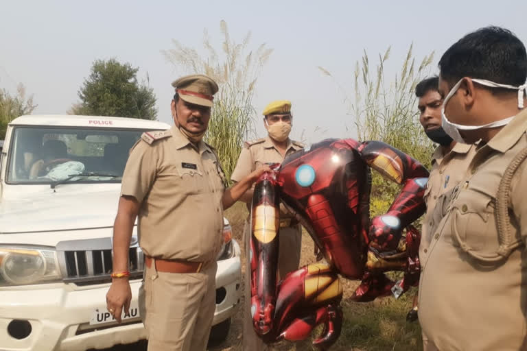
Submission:
<svg viewBox="0 0 527 351">
<path fill-rule="evenodd" d="M 0 157 L 0 350 L 88 350 L 145 338 L 137 308 L 143 253 L 130 245 L 130 315 L 106 311 L 112 228 L 128 150 L 166 123 L 120 117 L 23 116 Z M 225 220 L 212 337 L 239 302 L 239 245 Z"/>
</svg>

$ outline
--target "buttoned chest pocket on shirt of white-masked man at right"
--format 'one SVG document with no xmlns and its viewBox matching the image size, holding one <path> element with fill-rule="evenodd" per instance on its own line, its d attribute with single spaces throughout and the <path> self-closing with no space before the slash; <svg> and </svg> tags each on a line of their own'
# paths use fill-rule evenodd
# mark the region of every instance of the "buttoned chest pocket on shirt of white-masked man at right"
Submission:
<svg viewBox="0 0 527 351">
<path fill-rule="evenodd" d="M 465 243 L 469 250 L 497 248 L 495 197 L 484 191 L 465 189 L 452 202 L 452 244 Z"/>
</svg>

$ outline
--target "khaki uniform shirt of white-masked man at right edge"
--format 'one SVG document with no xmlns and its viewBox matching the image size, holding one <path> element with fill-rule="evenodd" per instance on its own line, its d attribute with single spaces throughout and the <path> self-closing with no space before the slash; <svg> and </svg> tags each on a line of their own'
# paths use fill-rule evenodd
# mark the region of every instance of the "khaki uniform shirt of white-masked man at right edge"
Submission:
<svg viewBox="0 0 527 351">
<path fill-rule="evenodd" d="M 526 131 L 527 109 L 478 146 L 464 180 L 434 208 L 432 241 L 421 256 L 419 322 L 425 344 L 438 350 L 526 350 L 525 246 L 500 263 L 482 263 L 460 247 L 464 243 L 479 254 L 497 250 L 497 189 L 511 160 L 527 147 Z M 527 236 L 526 165 L 515 173 L 509 196 L 513 242 L 522 243 Z"/>
</svg>

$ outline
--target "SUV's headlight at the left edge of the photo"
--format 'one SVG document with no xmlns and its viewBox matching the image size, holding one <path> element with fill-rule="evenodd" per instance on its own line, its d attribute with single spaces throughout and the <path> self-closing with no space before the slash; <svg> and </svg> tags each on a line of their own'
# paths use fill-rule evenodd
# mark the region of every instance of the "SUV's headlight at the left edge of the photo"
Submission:
<svg viewBox="0 0 527 351">
<path fill-rule="evenodd" d="M 0 286 L 60 280 L 54 250 L 0 247 Z"/>
</svg>

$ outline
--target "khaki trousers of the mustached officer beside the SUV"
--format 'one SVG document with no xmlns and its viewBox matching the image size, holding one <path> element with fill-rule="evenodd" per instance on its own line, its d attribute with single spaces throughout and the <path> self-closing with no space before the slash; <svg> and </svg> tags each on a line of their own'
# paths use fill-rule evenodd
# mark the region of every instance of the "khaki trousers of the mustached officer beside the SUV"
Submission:
<svg viewBox="0 0 527 351">
<path fill-rule="evenodd" d="M 216 308 L 211 263 L 199 273 L 165 273 L 145 267 L 139 288 L 139 311 L 148 338 L 148 351 L 204 351 Z"/>
</svg>

